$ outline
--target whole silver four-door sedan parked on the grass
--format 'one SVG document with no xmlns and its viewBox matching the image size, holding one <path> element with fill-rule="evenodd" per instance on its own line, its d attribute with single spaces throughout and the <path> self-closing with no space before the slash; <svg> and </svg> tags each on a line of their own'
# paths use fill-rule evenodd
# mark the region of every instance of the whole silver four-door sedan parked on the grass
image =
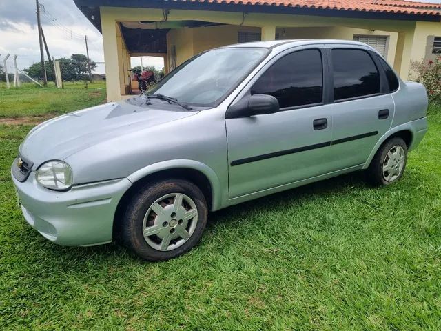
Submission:
<svg viewBox="0 0 441 331">
<path fill-rule="evenodd" d="M 356 170 L 402 177 L 427 94 L 364 43 L 269 41 L 189 59 L 145 95 L 51 119 L 12 164 L 23 215 L 61 245 L 190 250 L 208 211 Z"/>
</svg>

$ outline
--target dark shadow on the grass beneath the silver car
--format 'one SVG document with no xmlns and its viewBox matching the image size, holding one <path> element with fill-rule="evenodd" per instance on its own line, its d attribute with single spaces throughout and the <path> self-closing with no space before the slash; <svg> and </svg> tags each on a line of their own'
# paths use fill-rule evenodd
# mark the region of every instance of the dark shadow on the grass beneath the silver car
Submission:
<svg viewBox="0 0 441 331">
<path fill-rule="evenodd" d="M 367 190 L 372 187 L 365 183 L 363 172 L 352 172 L 344 174 L 339 177 L 327 179 L 311 183 L 291 190 L 286 190 L 276 194 L 271 194 L 266 197 L 233 205 L 229 208 L 219 210 L 217 212 L 210 212 L 207 224 L 207 232 L 216 232 L 216 227 L 220 224 L 227 226 L 227 228 L 236 228 L 240 220 L 249 217 L 249 214 L 257 213 L 258 210 L 264 209 L 271 212 L 271 210 L 280 210 L 280 208 L 288 208 L 293 203 L 298 203 L 299 200 L 308 201 L 309 198 L 325 197 L 329 194 L 336 196 L 347 194 L 348 190 Z M 302 203 L 302 202 L 300 202 Z M 232 215 L 234 215 L 232 217 Z M 34 230 L 29 229 L 34 232 Z M 30 234 L 31 235 L 31 234 Z M 33 236 L 38 236 L 33 233 Z M 108 265 L 109 263 L 144 263 L 143 260 L 136 257 L 134 253 L 127 250 L 118 241 L 108 243 L 106 245 L 97 245 L 91 247 L 63 247 L 50 243 L 43 238 L 34 239 L 36 245 L 40 245 L 42 254 L 47 254 L 48 257 L 63 263 L 63 270 L 69 270 L 72 265 L 72 271 L 78 272 L 79 261 L 83 261 L 84 265 L 89 263 L 97 263 L 96 266 Z M 198 245 L 203 248 L 202 245 Z"/>
</svg>

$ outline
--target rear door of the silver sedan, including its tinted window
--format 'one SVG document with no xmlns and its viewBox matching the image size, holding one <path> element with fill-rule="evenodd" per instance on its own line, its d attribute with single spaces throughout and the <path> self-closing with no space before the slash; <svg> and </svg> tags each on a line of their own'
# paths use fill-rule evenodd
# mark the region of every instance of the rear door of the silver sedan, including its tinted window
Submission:
<svg viewBox="0 0 441 331">
<path fill-rule="evenodd" d="M 365 163 L 391 127 L 394 109 L 377 55 L 363 48 L 330 47 L 331 162 L 335 170 Z"/>
</svg>

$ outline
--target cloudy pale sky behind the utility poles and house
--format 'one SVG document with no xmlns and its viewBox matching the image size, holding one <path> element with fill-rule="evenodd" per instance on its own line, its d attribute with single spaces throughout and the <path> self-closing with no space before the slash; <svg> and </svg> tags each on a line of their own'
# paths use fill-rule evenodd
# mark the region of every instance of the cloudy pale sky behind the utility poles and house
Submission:
<svg viewBox="0 0 441 331">
<path fill-rule="evenodd" d="M 70 57 L 85 54 L 84 34 L 88 35 L 90 59 L 98 63 L 96 73 L 104 73 L 103 39 L 101 33 L 76 8 L 73 0 L 41 0 L 41 24 L 50 56 Z M 441 0 L 424 0 L 441 3 Z M 23 70 L 40 61 L 37 18 L 34 0 L 0 0 L 0 63 L 10 53 L 8 67 L 12 69 L 12 56 L 17 54 L 17 66 Z M 140 64 L 132 59 L 132 66 Z M 163 59 L 144 57 L 144 66 L 163 67 Z M 9 71 L 12 71 L 12 70 Z"/>
</svg>

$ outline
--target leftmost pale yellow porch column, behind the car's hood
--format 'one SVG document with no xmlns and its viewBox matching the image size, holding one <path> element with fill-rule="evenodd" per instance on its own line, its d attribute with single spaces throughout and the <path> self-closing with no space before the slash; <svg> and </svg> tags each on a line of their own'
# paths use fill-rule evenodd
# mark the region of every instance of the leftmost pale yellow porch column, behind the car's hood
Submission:
<svg viewBox="0 0 441 331">
<path fill-rule="evenodd" d="M 104 65 L 105 65 L 105 85 L 107 88 L 107 101 L 117 101 L 121 99 L 121 73 L 120 63 L 123 63 L 121 47 L 119 48 L 119 38 L 121 32 L 116 21 L 111 17 L 101 14 L 101 30 L 103 33 Z M 117 35 L 120 32 L 119 36 Z"/>
</svg>

